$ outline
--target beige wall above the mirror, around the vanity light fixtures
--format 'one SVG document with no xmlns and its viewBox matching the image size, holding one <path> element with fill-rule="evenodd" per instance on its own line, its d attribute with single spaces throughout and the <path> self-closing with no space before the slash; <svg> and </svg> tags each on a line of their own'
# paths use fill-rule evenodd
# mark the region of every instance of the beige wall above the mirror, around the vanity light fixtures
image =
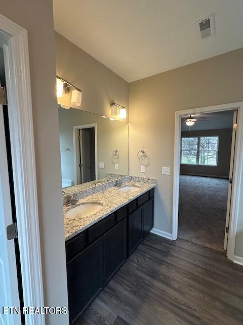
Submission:
<svg viewBox="0 0 243 325">
<path fill-rule="evenodd" d="M 57 75 L 82 89 L 82 110 L 110 116 L 112 102 L 128 109 L 127 81 L 58 32 L 55 32 L 55 42 Z"/>
</svg>

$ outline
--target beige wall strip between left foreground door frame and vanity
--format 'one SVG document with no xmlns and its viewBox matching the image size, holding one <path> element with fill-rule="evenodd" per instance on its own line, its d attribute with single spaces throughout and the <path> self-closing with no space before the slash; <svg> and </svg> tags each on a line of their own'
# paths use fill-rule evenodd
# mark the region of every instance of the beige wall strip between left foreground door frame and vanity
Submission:
<svg viewBox="0 0 243 325">
<path fill-rule="evenodd" d="M 45 306 L 67 306 L 52 1 L 2 0 L 1 14 L 28 31 Z M 47 320 L 64 325 L 68 315 Z"/>
</svg>

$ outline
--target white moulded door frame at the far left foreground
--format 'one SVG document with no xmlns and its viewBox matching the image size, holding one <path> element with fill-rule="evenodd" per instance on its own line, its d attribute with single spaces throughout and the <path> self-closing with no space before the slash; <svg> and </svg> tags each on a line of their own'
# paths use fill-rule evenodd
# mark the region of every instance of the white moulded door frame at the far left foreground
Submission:
<svg viewBox="0 0 243 325">
<path fill-rule="evenodd" d="M 24 305 L 44 307 L 27 30 L 0 15 L 0 31 L 6 33 L 5 74 Z M 29 314 L 25 321 L 26 325 L 44 325 L 45 316 Z"/>
</svg>

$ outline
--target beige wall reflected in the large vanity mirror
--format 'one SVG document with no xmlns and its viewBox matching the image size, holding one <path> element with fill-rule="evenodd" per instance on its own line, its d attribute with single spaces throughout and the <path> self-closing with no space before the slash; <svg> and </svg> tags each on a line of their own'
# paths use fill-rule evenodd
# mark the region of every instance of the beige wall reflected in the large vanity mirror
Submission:
<svg viewBox="0 0 243 325">
<path fill-rule="evenodd" d="M 107 173 L 128 175 L 128 123 L 110 121 L 98 114 L 80 111 L 77 109 L 59 108 L 60 146 L 69 148 L 61 151 L 62 178 L 74 181 L 74 146 L 73 126 L 97 123 L 97 156 L 98 156 L 98 179 L 106 177 Z M 117 149 L 119 152 L 118 171 L 114 170 L 114 162 L 111 153 Z M 105 168 L 99 168 L 99 161 L 104 163 Z"/>
</svg>

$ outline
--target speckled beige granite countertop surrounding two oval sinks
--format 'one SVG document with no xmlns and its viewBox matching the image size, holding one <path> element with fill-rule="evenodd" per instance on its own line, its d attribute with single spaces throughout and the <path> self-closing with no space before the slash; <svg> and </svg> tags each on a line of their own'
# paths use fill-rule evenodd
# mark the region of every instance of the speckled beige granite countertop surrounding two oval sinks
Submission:
<svg viewBox="0 0 243 325">
<path fill-rule="evenodd" d="M 78 233 L 83 232 L 85 229 L 89 228 L 91 225 L 105 218 L 112 212 L 118 210 L 124 205 L 128 204 L 130 201 L 133 201 L 141 194 L 147 192 L 149 189 L 155 186 L 153 182 L 138 182 L 138 181 L 129 181 L 122 185 L 124 186 L 137 186 L 139 187 L 138 191 L 135 192 L 120 192 L 118 188 L 111 187 L 106 190 L 100 191 L 98 193 L 92 194 L 84 199 L 78 200 L 74 205 L 64 205 L 64 228 L 65 228 L 65 240 L 72 238 Z M 100 211 L 81 218 L 77 217 L 65 217 L 65 213 L 84 203 L 97 203 L 101 204 L 102 208 Z"/>
</svg>

